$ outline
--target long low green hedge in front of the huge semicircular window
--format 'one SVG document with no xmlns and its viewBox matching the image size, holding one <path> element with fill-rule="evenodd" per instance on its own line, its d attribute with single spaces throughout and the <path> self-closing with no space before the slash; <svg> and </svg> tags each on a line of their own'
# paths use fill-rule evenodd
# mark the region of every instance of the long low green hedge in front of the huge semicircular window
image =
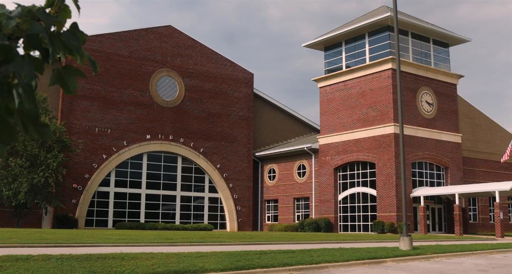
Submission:
<svg viewBox="0 0 512 274">
<path fill-rule="evenodd" d="M 138 223 L 138 222 L 122 222 L 117 223 L 114 227 L 119 230 L 184 230 L 184 231 L 212 231 L 211 224 L 163 224 L 163 223 Z"/>
</svg>

